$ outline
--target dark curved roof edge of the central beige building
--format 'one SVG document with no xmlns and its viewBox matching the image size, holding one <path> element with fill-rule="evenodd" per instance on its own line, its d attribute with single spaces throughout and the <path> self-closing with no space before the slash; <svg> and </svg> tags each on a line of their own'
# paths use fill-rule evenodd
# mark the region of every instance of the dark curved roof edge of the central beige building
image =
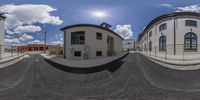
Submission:
<svg viewBox="0 0 200 100">
<path fill-rule="evenodd" d="M 111 32 L 111 33 L 115 34 L 116 36 L 118 36 L 118 37 L 121 38 L 122 40 L 124 40 L 124 39 L 123 39 L 119 34 L 117 34 L 116 32 L 114 32 L 114 31 L 112 31 L 112 30 L 110 30 L 110 29 L 107 29 L 107 28 L 105 28 L 105 27 L 102 27 L 102 26 L 99 26 L 99 25 L 95 25 L 95 24 L 75 24 L 75 25 L 70 25 L 70 26 L 63 27 L 63 28 L 61 28 L 60 30 L 61 30 L 61 31 L 64 31 L 64 30 L 69 29 L 69 28 L 84 27 L 84 26 L 86 26 L 86 27 L 95 27 L 95 28 L 100 28 L 100 29 L 102 29 L 102 30 L 106 30 L 106 31 L 108 31 L 108 32 Z"/>
</svg>

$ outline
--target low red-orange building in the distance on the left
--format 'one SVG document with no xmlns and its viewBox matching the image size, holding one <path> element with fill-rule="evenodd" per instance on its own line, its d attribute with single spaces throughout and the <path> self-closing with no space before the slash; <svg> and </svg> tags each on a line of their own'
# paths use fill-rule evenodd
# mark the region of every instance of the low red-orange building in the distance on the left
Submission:
<svg viewBox="0 0 200 100">
<path fill-rule="evenodd" d="M 28 44 L 23 46 L 17 46 L 19 52 L 33 52 L 33 51 L 49 51 L 53 45 L 44 44 Z"/>
</svg>

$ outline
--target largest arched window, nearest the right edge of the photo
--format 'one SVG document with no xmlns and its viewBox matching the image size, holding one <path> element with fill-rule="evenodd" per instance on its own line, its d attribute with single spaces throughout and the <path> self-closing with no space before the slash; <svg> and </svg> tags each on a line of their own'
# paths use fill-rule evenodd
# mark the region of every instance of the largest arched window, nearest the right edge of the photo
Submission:
<svg viewBox="0 0 200 100">
<path fill-rule="evenodd" d="M 197 35 L 195 33 L 189 32 L 185 34 L 184 49 L 197 50 Z"/>
</svg>

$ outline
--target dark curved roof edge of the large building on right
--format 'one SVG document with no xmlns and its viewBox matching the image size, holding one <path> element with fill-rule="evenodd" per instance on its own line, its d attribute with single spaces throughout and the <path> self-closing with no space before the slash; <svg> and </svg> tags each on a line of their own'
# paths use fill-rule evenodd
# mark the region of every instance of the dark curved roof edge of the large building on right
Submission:
<svg viewBox="0 0 200 100">
<path fill-rule="evenodd" d="M 170 14 L 165 14 L 162 16 L 159 16 L 157 18 L 155 18 L 154 20 L 152 20 L 147 27 L 144 29 L 144 31 L 140 34 L 141 36 L 139 36 L 139 40 L 140 38 L 145 34 L 146 31 L 148 31 L 148 29 L 154 25 L 156 22 L 165 19 L 165 18 L 171 18 L 171 17 L 177 17 L 177 16 L 184 16 L 184 15 L 189 15 L 189 16 L 197 16 L 200 17 L 200 13 L 196 13 L 196 12 L 175 12 L 175 13 L 170 13 Z"/>
</svg>

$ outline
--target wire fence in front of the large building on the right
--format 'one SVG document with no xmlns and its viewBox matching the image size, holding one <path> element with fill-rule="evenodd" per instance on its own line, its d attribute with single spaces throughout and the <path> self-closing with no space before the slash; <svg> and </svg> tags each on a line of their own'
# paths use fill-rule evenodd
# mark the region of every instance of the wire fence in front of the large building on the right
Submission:
<svg viewBox="0 0 200 100">
<path fill-rule="evenodd" d="M 193 46 L 195 47 L 195 46 Z M 175 50 L 174 50 L 175 48 Z M 153 46 L 151 49 L 146 48 L 142 53 L 154 58 L 176 61 L 200 61 L 200 45 L 197 45 L 196 50 L 185 49 L 184 44 L 166 45 L 163 48 Z"/>
</svg>

